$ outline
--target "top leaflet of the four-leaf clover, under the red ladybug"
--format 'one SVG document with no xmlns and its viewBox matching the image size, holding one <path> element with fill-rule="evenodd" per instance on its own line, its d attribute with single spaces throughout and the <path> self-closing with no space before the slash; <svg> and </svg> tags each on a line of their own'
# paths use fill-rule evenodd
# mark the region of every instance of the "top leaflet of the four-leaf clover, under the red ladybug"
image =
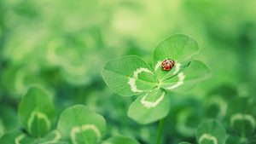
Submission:
<svg viewBox="0 0 256 144">
<path fill-rule="evenodd" d="M 179 72 L 182 67 L 187 66 L 191 57 L 198 53 L 198 51 L 197 42 L 189 36 L 176 34 L 167 37 L 154 49 L 153 67 L 158 79 L 169 78 L 173 72 Z M 161 69 L 161 62 L 166 59 L 172 59 L 176 62 L 172 70 L 167 72 Z"/>
</svg>

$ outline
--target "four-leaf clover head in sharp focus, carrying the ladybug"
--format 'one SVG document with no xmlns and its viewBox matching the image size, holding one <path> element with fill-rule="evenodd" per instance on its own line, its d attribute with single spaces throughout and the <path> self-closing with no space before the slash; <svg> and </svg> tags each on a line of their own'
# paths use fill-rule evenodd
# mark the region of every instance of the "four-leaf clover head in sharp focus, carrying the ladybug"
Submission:
<svg viewBox="0 0 256 144">
<path fill-rule="evenodd" d="M 191 60 L 199 51 L 195 39 L 183 34 L 173 35 L 154 49 L 153 66 L 135 55 L 109 60 L 102 77 L 119 95 L 139 95 L 131 104 L 128 116 L 140 124 L 165 118 L 170 109 L 166 91 L 182 92 L 209 78 L 209 68 L 199 60 Z M 175 66 L 163 71 L 163 60 L 172 59 Z"/>
</svg>

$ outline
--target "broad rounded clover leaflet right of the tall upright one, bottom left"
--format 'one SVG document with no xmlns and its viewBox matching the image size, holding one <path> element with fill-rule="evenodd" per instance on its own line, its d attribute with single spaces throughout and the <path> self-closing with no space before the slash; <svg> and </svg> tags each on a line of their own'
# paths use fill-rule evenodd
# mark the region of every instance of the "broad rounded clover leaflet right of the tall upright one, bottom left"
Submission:
<svg viewBox="0 0 256 144">
<path fill-rule="evenodd" d="M 90 112 L 83 105 L 76 105 L 61 113 L 58 130 L 73 144 L 96 144 L 105 134 L 106 122 L 101 115 Z"/>
</svg>

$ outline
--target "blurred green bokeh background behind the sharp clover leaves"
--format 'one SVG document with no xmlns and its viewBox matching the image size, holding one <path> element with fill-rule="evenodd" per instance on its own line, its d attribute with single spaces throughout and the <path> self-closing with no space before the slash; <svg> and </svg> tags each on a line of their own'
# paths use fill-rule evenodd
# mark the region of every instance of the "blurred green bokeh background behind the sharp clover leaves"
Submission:
<svg viewBox="0 0 256 144">
<path fill-rule="evenodd" d="M 102 80 L 102 66 L 122 55 L 151 61 L 160 40 L 184 33 L 198 41 L 195 59 L 212 69 L 212 78 L 186 94 L 170 94 L 164 143 L 195 143 L 201 119 L 223 119 L 218 106 L 225 110 L 232 97 L 255 97 L 255 5 L 254 0 L 1 0 L 0 136 L 20 129 L 20 97 L 40 84 L 58 115 L 84 104 L 107 119 L 106 138 L 125 135 L 154 143 L 157 124 L 139 125 L 127 117 L 134 97 L 113 94 Z M 211 107 L 212 97 L 219 105 Z"/>
</svg>

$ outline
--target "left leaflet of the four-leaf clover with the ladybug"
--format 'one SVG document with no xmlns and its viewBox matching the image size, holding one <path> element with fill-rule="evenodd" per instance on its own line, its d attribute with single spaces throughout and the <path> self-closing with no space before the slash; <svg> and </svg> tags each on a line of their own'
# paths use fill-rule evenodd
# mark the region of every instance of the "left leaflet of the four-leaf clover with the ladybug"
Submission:
<svg viewBox="0 0 256 144">
<path fill-rule="evenodd" d="M 119 95 L 138 95 L 156 86 L 154 72 L 138 56 L 124 56 L 109 60 L 102 70 L 108 87 Z"/>
</svg>

